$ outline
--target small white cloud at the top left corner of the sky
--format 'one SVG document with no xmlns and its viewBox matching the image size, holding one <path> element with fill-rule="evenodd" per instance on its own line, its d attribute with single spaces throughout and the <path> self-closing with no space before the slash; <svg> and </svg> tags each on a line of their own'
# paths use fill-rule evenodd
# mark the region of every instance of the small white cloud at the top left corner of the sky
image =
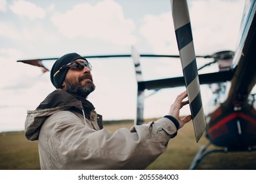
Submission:
<svg viewBox="0 0 256 183">
<path fill-rule="evenodd" d="M 45 10 L 31 2 L 18 0 L 10 6 L 10 9 L 14 14 L 19 16 L 26 16 L 30 20 L 35 20 L 36 18 L 42 19 L 45 18 Z"/>
</svg>

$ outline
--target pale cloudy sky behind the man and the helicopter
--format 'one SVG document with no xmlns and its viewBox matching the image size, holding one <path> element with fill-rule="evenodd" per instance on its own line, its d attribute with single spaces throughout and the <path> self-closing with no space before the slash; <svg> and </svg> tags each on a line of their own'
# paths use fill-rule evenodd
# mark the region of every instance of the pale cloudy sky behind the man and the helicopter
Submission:
<svg viewBox="0 0 256 183">
<path fill-rule="evenodd" d="M 196 55 L 236 50 L 243 0 L 188 1 Z M 34 110 L 55 88 L 49 72 L 20 59 L 81 56 L 179 54 L 169 0 L 0 0 L 0 132 L 24 130 Z M 144 80 L 181 76 L 177 59 L 140 58 Z M 198 66 L 203 60 L 197 60 Z M 131 58 L 89 59 L 95 92 L 88 97 L 104 120 L 134 119 L 137 81 Z M 54 61 L 45 61 L 51 69 Z M 203 72 L 215 71 L 205 69 Z M 164 116 L 184 87 L 160 90 L 145 99 L 144 118 Z M 203 105 L 209 90 L 202 86 Z M 152 91 L 146 91 L 149 95 Z M 182 108 L 181 114 L 189 113 Z"/>
</svg>

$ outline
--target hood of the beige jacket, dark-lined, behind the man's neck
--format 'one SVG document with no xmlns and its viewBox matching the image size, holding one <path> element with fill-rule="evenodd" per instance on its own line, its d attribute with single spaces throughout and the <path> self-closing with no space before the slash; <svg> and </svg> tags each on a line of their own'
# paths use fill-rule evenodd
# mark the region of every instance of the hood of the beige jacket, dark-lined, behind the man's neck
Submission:
<svg viewBox="0 0 256 183">
<path fill-rule="evenodd" d="M 25 135 L 30 141 L 38 140 L 39 131 L 43 122 L 60 110 L 75 110 L 81 112 L 84 110 L 86 118 L 89 118 L 93 105 L 77 95 L 70 94 L 65 90 L 58 89 L 50 93 L 35 110 L 28 110 L 25 121 Z"/>
</svg>

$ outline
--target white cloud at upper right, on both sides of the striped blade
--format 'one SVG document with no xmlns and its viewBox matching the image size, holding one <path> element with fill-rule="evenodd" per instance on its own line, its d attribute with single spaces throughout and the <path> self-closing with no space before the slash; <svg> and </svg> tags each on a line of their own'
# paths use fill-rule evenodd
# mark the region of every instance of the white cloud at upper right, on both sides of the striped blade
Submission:
<svg viewBox="0 0 256 183">
<path fill-rule="evenodd" d="M 243 1 L 191 1 L 190 21 L 196 54 L 234 50 L 242 17 Z M 203 18 L 202 18 L 203 16 Z M 140 34 L 158 54 L 179 54 L 171 11 L 146 15 Z"/>
</svg>

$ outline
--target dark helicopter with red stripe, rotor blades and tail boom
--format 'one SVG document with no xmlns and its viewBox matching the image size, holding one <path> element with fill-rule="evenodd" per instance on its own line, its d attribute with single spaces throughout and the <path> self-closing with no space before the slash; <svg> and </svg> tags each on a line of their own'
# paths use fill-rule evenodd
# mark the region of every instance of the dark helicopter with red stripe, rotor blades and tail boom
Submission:
<svg viewBox="0 0 256 183">
<path fill-rule="evenodd" d="M 180 2 L 180 3 L 177 3 Z M 175 4 L 177 3 L 177 4 Z M 186 9 L 188 15 L 186 1 L 171 1 L 173 11 L 181 11 L 181 8 Z M 175 7 L 177 6 L 177 7 Z M 256 150 L 256 110 L 255 110 L 255 93 L 251 93 L 256 83 L 256 1 L 247 0 L 245 2 L 244 14 L 240 27 L 240 41 L 235 51 L 224 50 L 207 56 L 192 56 L 192 61 L 196 62 L 196 58 L 212 59 L 209 63 L 201 68 L 192 69 L 190 73 L 197 78 L 197 88 L 192 88 L 190 91 L 198 91 L 195 95 L 199 97 L 196 105 L 192 105 L 190 100 L 190 110 L 193 113 L 196 108 L 196 114 L 200 113 L 198 122 L 194 122 L 194 130 L 196 141 L 199 141 L 203 133 L 209 142 L 202 146 L 193 159 L 189 169 L 196 169 L 202 159 L 213 152 L 240 152 Z M 173 16 L 174 17 L 174 16 Z M 178 19 L 181 15 L 177 16 Z M 188 18 L 189 20 L 189 18 Z M 173 20 L 174 22 L 179 20 Z M 187 22 L 188 23 L 188 22 Z M 187 24 L 186 24 L 187 25 Z M 179 26 L 178 26 L 179 27 Z M 191 28 L 190 28 L 191 29 Z M 175 32 L 177 29 L 175 30 Z M 191 31 L 191 30 L 190 30 Z M 182 35 L 177 35 L 177 39 L 181 37 L 192 37 L 191 32 L 181 31 Z M 179 38 L 180 37 L 180 38 Z M 179 40 L 178 41 L 178 46 Z M 192 52 L 194 52 L 192 46 Z M 181 50 L 179 48 L 179 50 Z M 186 53 L 185 53 L 186 55 Z M 180 52 L 179 56 L 175 55 L 154 55 L 154 54 L 139 54 L 132 47 L 131 54 L 123 55 L 98 55 L 85 56 L 85 58 L 133 58 L 135 66 L 135 75 L 137 78 L 137 116 L 135 124 L 144 123 L 144 99 L 145 90 L 158 92 L 163 88 L 175 88 L 186 86 L 188 90 L 188 77 L 184 71 L 184 76 L 171 78 L 163 78 L 157 80 L 143 80 L 140 58 L 184 58 L 184 54 Z M 27 59 L 18 60 L 18 62 L 28 63 L 41 67 L 43 73 L 49 71 L 43 65 L 45 60 L 54 60 L 58 58 L 43 58 L 43 59 Z M 214 73 L 205 73 L 198 75 L 198 71 L 203 67 L 207 67 L 213 63 L 219 65 L 219 71 Z M 184 63 L 183 63 L 184 64 Z M 184 67 L 183 67 L 184 69 Z M 213 91 L 213 103 L 211 111 L 205 113 L 202 110 L 202 101 L 200 95 L 200 85 L 207 84 Z M 189 95 L 189 91 L 188 91 Z M 193 120 L 196 118 L 193 116 Z M 202 115 L 203 114 L 203 115 Z M 207 150 L 209 146 L 215 145 L 219 147 L 214 150 Z"/>
</svg>

